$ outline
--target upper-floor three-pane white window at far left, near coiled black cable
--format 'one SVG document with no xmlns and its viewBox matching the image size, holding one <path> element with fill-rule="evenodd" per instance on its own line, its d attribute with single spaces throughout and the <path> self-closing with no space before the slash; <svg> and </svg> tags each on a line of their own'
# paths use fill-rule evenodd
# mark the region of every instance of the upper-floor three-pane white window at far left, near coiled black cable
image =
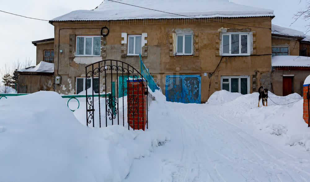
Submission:
<svg viewBox="0 0 310 182">
<path fill-rule="evenodd" d="M 101 36 L 77 36 L 75 56 L 100 56 Z"/>
</svg>

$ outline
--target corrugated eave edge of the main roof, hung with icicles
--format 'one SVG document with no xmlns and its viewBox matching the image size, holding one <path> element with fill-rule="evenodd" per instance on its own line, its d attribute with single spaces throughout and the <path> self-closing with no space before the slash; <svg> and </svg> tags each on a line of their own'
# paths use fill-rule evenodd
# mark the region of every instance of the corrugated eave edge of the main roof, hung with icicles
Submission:
<svg viewBox="0 0 310 182">
<path fill-rule="evenodd" d="M 272 17 L 274 18 L 274 14 L 263 14 L 263 15 L 236 15 L 236 16 L 231 16 L 231 15 L 223 15 L 223 16 L 206 16 L 206 17 L 193 17 L 189 18 L 186 16 L 180 16 L 179 18 L 134 18 L 134 19 L 70 19 L 70 20 L 49 20 L 49 23 L 51 22 L 64 22 L 64 21 L 109 21 L 109 20 L 145 20 L 145 19 L 204 19 L 204 18 L 246 18 L 246 17 Z M 219 22 L 221 23 L 221 22 Z"/>
</svg>

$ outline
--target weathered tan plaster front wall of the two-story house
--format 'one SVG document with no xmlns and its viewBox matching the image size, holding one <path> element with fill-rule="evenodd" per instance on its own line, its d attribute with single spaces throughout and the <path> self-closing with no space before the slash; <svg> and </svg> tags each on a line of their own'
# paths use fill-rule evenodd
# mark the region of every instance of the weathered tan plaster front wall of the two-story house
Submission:
<svg viewBox="0 0 310 182">
<path fill-rule="evenodd" d="M 222 21 L 271 28 L 271 19 L 271 17 L 224 18 Z M 104 26 L 109 28 L 110 33 L 107 37 L 101 37 L 101 59 L 121 60 L 136 69 L 139 69 L 139 56 L 126 55 L 127 44 L 124 42 L 122 44 L 124 41 L 122 33 L 127 33 L 127 35 L 147 33 L 145 38 L 147 43 L 142 48 L 142 60 L 154 79 L 160 83 L 163 93 L 165 93 L 165 76 L 172 74 L 201 75 L 201 102 L 206 102 L 213 92 L 221 89 L 221 76 L 250 75 L 250 92 L 257 91 L 261 84 L 267 83 L 263 86 L 270 86 L 270 77 L 264 78 L 261 82 L 261 78 L 270 75 L 271 71 L 270 29 L 187 19 L 77 23 L 53 23 L 55 26 L 55 75 L 62 76 L 62 86 L 55 85 L 55 91 L 62 94 L 74 94 L 75 78 L 85 77 L 85 66 L 91 63 L 83 57 L 75 57 L 76 36 L 100 35 L 100 30 Z M 253 34 L 250 40 L 253 48 L 252 55 L 224 57 L 219 64 L 222 58 L 219 55 L 221 28 L 236 32 L 251 32 Z M 176 29 L 193 31 L 193 55 L 173 55 L 173 37 Z M 63 53 L 59 54 L 58 65 L 59 49 L 63 50 Z M 98 61 L 98 57 L 94 57 L 93 60 L 93 62 Z M 216 69 L 218 64 L 219 67 Z M 209 77 L 209 73 L 214 71 L 213 76 Z M 207 76 L 204 76 L 204 73 L 207 73 Z"/>
</svg>

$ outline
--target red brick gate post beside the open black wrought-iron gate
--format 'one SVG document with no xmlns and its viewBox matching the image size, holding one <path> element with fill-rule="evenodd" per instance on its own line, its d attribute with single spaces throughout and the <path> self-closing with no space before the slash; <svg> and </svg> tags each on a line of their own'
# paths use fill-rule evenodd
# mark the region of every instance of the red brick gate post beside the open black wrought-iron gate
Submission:
<svg viewBox="0 0 310 182">
<path fill-rule="evenodd" d="M 145 129 L 147 123 L 147 83 L 143 79 L 127 80 L 127 118 L 134 130 Z"/>
</svg>

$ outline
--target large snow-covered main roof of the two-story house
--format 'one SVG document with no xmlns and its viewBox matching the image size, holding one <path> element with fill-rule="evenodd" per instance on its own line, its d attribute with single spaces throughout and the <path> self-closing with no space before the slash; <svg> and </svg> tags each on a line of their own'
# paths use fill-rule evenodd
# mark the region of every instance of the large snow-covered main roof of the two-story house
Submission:
<svg viewBox="0 0 310 182">
<path fill-rule="evenodd" d="M 214 18 L 274 16 L 273 10 L 239 5 L 228 0 L 104 0 L 94 10 L 77 10 L 51 21 L 74 20 L 131 20 L 160 18 Z M 118 2 L 179 15 L 129 6 Z"/>
</svg>

